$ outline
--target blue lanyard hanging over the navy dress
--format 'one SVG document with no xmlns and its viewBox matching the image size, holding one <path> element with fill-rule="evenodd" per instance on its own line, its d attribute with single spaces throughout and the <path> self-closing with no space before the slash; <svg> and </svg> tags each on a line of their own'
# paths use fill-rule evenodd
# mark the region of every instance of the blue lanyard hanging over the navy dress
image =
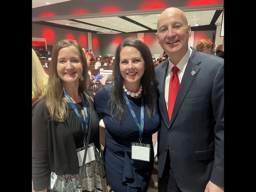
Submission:
<svg viewBox="0 0 256 192">
<path fill-rule="evenodd" d="M 143 96 L 141 98 L 141 106 L 140 106 L 140 123 L 134 113 L 134 110 L 133 110 L 133 107 L 130 103 L 130 101 L 128 100 L 128 97 L 126 96 L 126 94 L 123 92 L 123 97 L 124 97 L 124 100 L 125 102 L 127 103 L 129 109 L 130 109 L 130 112 L 136 122 L 136 125 L 139 129 L 139 141 L 141 142 L 142 140 L 142 134 L 143 134 L 143 131 L 144 131 L 144 102 L 143 102 Z"/>
</svg>

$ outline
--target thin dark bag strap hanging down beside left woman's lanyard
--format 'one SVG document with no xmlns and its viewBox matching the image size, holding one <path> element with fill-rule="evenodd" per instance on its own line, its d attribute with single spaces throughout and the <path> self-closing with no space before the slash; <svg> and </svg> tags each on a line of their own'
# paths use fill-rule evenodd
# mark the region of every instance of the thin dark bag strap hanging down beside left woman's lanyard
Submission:
<svg viewBox="0 0 256 192">
<path fill-rule="evenodd" d="M 88 101 L 89 104 L 89 108 L 90 108 L 90 120 L 92 119 L 92 108 L 91 108 L 91 104 L 90 104 L 90 100 L 86 94 L 86 92 L 83 92 L 84 95 L 86 95 L 86 99 Z M 86 146 L 84 147 L 84 155 L 83 155 L 83 161 L 82 161 L 82 169 L 81 169 L 81 175 L 80 175 L 80 181 L 77 185 L 77 191 L 80 192 L 81 188 L 82 188 L 82 178 L 84 175 L 84 167 L 86 166 L 86 156 L 87 156 L 87 151 L 88 151 L 88 146 L 89 146 L 89 140 L 90 140 L 90 135 L 91 135 L 91 127 L 92 123 L 89 123 L 89 129 L 88 129 L 88 136 L 87 136 L 87 140 L 86 140 Z"/>
</svg>

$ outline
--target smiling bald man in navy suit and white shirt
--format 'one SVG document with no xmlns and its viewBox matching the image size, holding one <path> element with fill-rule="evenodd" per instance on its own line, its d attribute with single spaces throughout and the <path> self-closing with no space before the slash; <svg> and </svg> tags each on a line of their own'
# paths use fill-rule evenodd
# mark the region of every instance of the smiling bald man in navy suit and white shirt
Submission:
<svg viewBox="0 0 256 192">
<path fill-rule="evenodd" d="M 224 191 L 224 59 L 188 46 L 190 25 L 183 11 L 167 8 L 158 17 L 157 39 L 168 54 L 155 68 L 161 128 L 158 190 Z M 168 117 L 169 79 L 180 82 Z"/>
</svg>

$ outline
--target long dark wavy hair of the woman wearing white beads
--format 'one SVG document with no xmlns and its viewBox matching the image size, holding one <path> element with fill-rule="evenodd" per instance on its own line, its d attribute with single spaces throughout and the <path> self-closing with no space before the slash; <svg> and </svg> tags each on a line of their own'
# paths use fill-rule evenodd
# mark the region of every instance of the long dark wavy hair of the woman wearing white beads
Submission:
<svg viewBox="0 0 256 192">
<path fill-rule="evenodd" d="M 123 119 L 125 114 L 125 103 L 123 99 L 123 77 L 120 72 L 120 52 L 126 47 L 136 48 L 142 55 L 145 61 L 145 71 L 141 78 L 142 84 L 142 96 L 144 96 L 144 106 L 147 109 L 147 115 L 151 118 L 156 111 L 157 107 L 157 84 L 155 78 L 154 62 L 152 59 L 152 54 L 147 45 L 136 38 L 126 38 L 117 47 L 115 54 L 115 65 L 113 71 L 113 83 L 111 88 L 111 98 L 110 98 L 110 113 L 111 117 L 114 119 L 114 109 L 117 108 L 120 120 Z"/>
</svg>

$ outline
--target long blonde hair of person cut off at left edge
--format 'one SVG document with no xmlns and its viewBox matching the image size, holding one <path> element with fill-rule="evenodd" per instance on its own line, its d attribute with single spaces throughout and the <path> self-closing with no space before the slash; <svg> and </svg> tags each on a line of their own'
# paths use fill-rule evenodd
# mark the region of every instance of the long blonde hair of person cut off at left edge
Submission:
<svg viewBox="0 0 256 192">
<path fill-rule="evenodd" d="M 42 68 L 41 62 L 32 49 L 32 104 L 45 95 L 48 75 Z"/>
</svg>

